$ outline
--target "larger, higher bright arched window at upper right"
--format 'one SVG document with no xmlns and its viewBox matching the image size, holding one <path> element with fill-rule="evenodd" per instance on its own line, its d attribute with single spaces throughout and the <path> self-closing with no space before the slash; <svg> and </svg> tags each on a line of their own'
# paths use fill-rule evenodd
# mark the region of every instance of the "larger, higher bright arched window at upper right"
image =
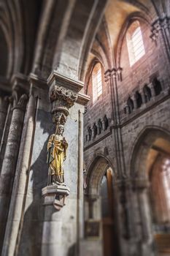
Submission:
<svg viewBox="0 0 170 256">
<path fill-rule="evenodd" d="M 139 21 L 134 21 L 126 32 L 126 41 L 128 46 L 128 57 L 130 66 L 144 56 L 144 42 Z"/>
</svg>

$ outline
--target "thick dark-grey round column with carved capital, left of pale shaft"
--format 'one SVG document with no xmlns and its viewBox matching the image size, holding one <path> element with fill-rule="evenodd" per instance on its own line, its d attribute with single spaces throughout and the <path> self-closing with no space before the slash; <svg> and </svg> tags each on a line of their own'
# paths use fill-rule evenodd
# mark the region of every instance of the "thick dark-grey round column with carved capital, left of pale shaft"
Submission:
<svg viewBox="0 0 170 256">
<path fill-rule="evenodd" d="M 18 91 L 19 92 L 19 91 Z M 20 147 L 20 137 L 23 129 L 23 118 L 25 114 L 26 94 L 18 94 L 14 91 L 14 105 L 12 110 L 12 120 L 9 127 L 7 146 L 4 154 L 4 161 L 1 167 L 0 176 L 0 241 L 4 239 L 5 226 L 9 208 L 12 186 L 15 177 L 15 167 L 17 165 L 18 151 Z"/>
</svg>

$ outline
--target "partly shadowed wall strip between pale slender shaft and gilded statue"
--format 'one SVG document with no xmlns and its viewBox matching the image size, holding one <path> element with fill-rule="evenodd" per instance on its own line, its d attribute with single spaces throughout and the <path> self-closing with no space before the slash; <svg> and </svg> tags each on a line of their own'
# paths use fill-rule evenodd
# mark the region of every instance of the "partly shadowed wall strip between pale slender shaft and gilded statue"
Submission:
<svg viewBox="0 0 170 256">
<path fill-rule="evenodd" d="M 42 230 L 45 206 L 42 205 L 42 188 L 47 186 L 47 140 L 53 133 L 52 116 L 38 110 L 34 135 L 33 154 L 29 173 L 23 227 L 18 255 L 41 255 Z M 28 207 L 28 208 L 27 208 Z"/>
</svg>

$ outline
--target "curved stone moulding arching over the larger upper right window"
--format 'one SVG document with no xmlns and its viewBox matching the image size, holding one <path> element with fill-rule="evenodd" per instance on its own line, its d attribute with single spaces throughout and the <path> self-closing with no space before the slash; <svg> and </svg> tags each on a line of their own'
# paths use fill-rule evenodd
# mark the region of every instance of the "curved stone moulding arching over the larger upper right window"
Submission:
<svg viewBox="0 0 170 256">
<path fill-rule="evenodd" d="M 117 46 L 116 46 L 116 67 L 120 67 L 120 59 L 121 59 L 121 51 L 123 46 L 123 40 L 125 38 L 126 31 L 128 30 L 129 26 L 131 26 L 131 23 L 133 23 L 135 20 L 139 20 L 147 23 L 147 26 L 150 26 L 152 23 L 152 18 L 147 13 L 143 12 L 134 12 L 131 13 L 131 15 L 128 15 L 128 18 L 126 18 L 125 22 L 123 23 L 122 29 L 120 30 L 119 37 L 117 39 Z"/>
</svg>

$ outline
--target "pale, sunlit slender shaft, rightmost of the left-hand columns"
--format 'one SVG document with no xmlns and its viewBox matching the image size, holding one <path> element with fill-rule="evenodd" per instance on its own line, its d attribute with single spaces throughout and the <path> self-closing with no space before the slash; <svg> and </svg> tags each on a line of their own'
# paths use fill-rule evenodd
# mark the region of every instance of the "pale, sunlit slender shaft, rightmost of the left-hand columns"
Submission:
<svg viewBox="0 0 170 256">
<path fill-rule="evenodd" d="M 28 167 L 31 157 L 32 140 L 34 133 L 34 118 L 36 111 L 36 99 L 30 95 L 26 118 L 23 127 L 23 135 L 18 155 L 18 165 L 15 173 L 15 181 L 12 189 L 12 198 L 9 206 L 6 232 L 2 255 L 14 255 L 17 244 L 20 219 L 23 213 L 23 203 L 28 184 Z"/>
</svg>

